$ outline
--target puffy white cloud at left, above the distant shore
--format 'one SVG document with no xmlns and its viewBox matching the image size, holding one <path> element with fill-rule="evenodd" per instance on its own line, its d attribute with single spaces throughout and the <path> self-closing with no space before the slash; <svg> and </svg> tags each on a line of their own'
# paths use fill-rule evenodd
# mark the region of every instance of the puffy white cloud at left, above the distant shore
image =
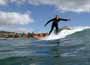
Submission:
<svg viewBox="0 0 90 65">
<path fill-rule="evenodd" d="M 0 25 L 28 24 L 33 22 L 32 17 L 28 13 L 3 12 L 0 11 Z"/>
</svg>

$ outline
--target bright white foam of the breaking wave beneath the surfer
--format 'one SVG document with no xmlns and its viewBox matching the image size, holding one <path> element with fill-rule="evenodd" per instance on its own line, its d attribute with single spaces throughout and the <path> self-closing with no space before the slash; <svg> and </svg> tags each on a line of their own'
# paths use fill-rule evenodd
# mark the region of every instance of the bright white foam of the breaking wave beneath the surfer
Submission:
<svg viewBox="0 0 90 65">
<path fill-rule="evenodd" d="M 44 38 L 44 40 L 54 40 L 54 39 L 61 39 L 61 38 L 65 38 L 68 35 L 71 35 L 73 33 L 79 32 L 79 31 L 83 31 L 85 29 L 90 29 L 90 27 L 86 26 L 86 27 L 72 27 L 71 30 L 62 30 L 60 33 L 58 33 L 58 35 L 52 33 L 51 35 L 47 36 L 46 38 Z"/>
</svg>

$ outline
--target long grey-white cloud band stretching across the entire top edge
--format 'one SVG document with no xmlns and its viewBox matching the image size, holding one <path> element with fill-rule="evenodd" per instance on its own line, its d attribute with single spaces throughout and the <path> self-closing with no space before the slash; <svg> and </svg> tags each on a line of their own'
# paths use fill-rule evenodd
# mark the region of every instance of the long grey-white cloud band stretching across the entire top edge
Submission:
<svg viewBox="0 0 90 65">
<path fill-rule="evenodd" d="M 53 5 L 62 11 L 90 12 L 90 0 L 0 0 L 0 4 L 5 3 Z"/>
</svg>

